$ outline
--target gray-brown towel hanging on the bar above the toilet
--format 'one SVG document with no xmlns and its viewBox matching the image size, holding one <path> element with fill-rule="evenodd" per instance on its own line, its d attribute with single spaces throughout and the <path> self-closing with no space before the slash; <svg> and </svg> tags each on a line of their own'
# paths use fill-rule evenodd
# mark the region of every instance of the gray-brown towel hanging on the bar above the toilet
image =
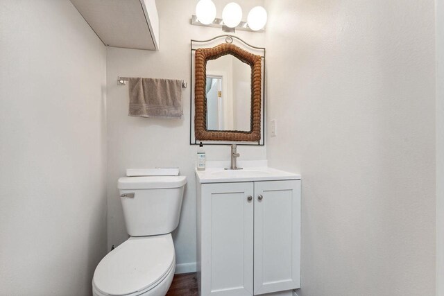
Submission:
<svg viewBox="0 0 444 296">
<path fill-rule="evenodd" d="M 160 78 L 130 78 L 129 116 L 180 119 L 182 81 Z"/>
</svg>

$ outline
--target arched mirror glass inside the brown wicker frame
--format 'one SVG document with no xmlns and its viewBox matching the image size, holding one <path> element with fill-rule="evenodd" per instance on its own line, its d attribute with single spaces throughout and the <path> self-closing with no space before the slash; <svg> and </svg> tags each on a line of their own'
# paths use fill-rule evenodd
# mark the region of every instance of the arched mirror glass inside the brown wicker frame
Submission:
<svg viewBox="0 0 444 296">
<path fill-rule="evenodd" d="M 207 62 L 207 130 L 250 130 L 250 80 L 250 65 L 234 55 Z"/>
</svg>

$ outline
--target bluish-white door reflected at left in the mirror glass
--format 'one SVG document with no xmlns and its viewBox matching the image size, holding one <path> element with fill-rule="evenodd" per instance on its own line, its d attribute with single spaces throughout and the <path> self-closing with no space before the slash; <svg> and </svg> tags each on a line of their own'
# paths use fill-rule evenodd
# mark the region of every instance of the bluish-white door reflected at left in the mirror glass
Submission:
<svg viewBox="0 0 444 296">
<path fill-rule="evenodd" d="M 207 76 L 207 130 L 223 130 L 222 79 Z"/>
</svg>

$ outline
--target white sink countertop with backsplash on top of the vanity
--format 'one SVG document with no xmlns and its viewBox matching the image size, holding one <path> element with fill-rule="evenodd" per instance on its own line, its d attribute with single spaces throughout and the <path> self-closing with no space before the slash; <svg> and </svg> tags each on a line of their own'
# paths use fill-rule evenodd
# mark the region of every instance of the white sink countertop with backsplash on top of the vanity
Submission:
<svg viewBox="0 0 444 296">
<path fill-rule="evenodd" d="M 275 181 L 275 180 L 300 180 L 300 175 L 280 171 L 268 166 L 260 166 L 266 162 L 239 162 L 242 170 L 225 170 L 228 166 L 217 166 L 225 162 L 208 162 L 205 171 L 196 170 L 196 178 L 200 183 L 225 183 L 225 182 L 252 182 L 252 181 Z M 255 166 L 259 164 L 259 166 Z M 242 166 L 244 165 L 244 166 Z"/>
</svg>

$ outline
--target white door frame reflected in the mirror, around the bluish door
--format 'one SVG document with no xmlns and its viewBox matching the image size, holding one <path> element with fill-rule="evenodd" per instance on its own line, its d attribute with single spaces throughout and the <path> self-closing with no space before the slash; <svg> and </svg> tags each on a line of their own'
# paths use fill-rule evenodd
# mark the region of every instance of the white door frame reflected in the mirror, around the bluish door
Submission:
<svg viewBox="0 0 444 296">
<path fill-rule="evenodd" d="M 232 96 L 228 94 L 228 82 L 229 76 L 225 71 L 208 71 L 207 78 L 221 78 L 222 79 L 222 98 L 219 98 L 219 127 L 220 130 L 232 130 L 233 129 L 233 102 Z M 220 102 L 222 101 L 222 102 Z M 231 112 L 229 112 L 231 110 Z M 223 115 L 223 116 L 221 116 Z M 221 124 L 221 118 L 223 118 L 223 124 Z"/>
</svg>

